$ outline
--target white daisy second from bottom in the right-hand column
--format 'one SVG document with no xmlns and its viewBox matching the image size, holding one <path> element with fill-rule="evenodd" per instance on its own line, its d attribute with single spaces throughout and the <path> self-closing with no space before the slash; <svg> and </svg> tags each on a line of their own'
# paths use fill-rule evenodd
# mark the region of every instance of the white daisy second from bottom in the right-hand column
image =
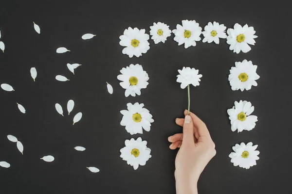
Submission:
<svg viewBox="0 0 292 194">
<path fill-rule="evenodd" d="M 235 101 L 232 109 L 228 109 L 231 130 L 241 132 L 243 130 L 252 130 L 256 127 L 257 116 L 250 115 L 254 112 L 255 107 L 248 101 Z"/>
</svg>

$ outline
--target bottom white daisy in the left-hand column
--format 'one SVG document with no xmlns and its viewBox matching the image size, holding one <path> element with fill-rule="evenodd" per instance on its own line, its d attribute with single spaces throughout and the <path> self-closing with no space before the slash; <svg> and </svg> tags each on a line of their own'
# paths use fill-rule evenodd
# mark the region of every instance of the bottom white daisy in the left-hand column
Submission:
<svg viewBox="0 0 292 194">
<path fill-rule="evenodd" d="M 139 165 L 144 166 L 149 158 L 151 158 L 151 149 L 146 146 L 147 142 L 142 141 L 141 137 L 138 137 L 137 140 L 133 138 L 126 140 L 125 145 L 120 150 L 120 157 L 127 161 L 128 165 L 133 166 L 134 170 L 137 170 Z"/>
</svg>

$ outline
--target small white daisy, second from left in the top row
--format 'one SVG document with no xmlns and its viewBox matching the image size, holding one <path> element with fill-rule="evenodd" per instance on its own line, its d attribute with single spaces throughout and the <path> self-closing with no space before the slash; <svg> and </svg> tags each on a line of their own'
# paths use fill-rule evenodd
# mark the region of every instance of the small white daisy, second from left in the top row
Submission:
<svg viewBox="0 0 292 194">
<path fill-rule="evenodd" d="M 160 42 L 165 42 L 167 37 L 170 36 L 171 30 L 169 30 L 169 26 L 164 23 L 158 22 L 157 24 L 154 22 L 153 26 L 150 26 L 150 35 L 151 39 L 154 40 L 155 44 Z"/>
</svg>

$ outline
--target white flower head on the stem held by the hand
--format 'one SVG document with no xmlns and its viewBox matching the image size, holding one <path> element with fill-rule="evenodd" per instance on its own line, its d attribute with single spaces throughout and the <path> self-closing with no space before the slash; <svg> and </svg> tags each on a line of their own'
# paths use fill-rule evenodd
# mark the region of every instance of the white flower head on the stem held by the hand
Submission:
<svg viewBox="0 0 292 194">
<path fill-rule="evenodd" d="M 187 85 L 193 84 L 193 86 L 200 85 L 202 75 L 199 74 L 199 70 L 190 67 L 183 67 L 182 70 L 178 70 L 180 75 L 177 75 L 177 82 L 181 83 L 181 88 L 184 89 Z"/>
</svg>

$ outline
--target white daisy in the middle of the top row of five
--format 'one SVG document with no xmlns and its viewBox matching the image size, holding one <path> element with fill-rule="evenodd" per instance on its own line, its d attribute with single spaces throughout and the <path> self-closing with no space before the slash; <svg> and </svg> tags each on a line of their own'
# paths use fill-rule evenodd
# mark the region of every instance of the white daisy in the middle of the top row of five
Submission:
<svg viewBox="0 0 292 194">
<path fill-rule="evenodd" d="M 195 20 L 183 20 L 183 26 L 177 24 L 177 29 L 173 30 L 175 37 L 174 40 L 182 45 L 184 43 L 184 48 L 187 49 L 190 46 L 196 46 L 196 41 L 201 40 L 202 28 L 199 26 Z"/>
</svg>

